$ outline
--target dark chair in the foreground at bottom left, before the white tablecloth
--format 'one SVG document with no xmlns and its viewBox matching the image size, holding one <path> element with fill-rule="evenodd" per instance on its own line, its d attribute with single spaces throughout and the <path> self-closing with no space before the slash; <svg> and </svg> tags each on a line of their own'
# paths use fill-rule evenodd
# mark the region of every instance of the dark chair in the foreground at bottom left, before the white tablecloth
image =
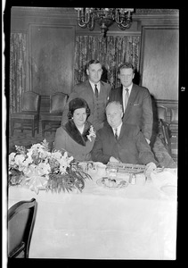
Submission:
<svg viewBox="0 0 188 268">
<path fill-rule="evenodd" d="M 37 214 L 37 201 L 20 201 L 8 210 L 8 258 L 29 258 L 29 244 Z"/>
</svg>

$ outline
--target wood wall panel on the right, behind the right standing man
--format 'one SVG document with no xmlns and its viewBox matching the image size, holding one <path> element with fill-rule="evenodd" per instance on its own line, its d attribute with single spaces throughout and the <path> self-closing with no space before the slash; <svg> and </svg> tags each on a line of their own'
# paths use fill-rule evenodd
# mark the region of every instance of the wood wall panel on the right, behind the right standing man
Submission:
<svg viewBox="0 0 188 268">
<path fill-rule="evenodd" d="M 157 99 L 178 99 L 178 29 L 143 27 L 142 85 Z"/>
</svg>

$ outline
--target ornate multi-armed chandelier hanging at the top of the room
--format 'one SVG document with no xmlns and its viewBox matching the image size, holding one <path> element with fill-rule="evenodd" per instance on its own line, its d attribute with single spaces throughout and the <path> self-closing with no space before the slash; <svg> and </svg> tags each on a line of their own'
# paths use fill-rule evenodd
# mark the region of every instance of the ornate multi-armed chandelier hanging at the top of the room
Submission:
<svg viewBox="0 0 188 268">
<path fill-rule="evenodd" d="M 93 8 L 93 7 L 78 7 L 78 25 L 81 28 L 94 29 L 96 21 L 102 29 L 102 37 L 106 36 L 106 32 L 110 25 L 116 21 L 119 29 L 127 29 L 131 25 L 131 13 L 133 8 Z"/>
</svg>

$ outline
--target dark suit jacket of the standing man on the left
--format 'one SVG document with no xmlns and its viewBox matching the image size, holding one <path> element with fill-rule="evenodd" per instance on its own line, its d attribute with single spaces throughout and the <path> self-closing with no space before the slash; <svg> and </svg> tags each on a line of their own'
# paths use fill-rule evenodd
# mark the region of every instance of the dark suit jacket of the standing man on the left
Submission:
<svg viewBox="0 0 188 268">
<path fill-rule="evenodd" d="M 94 108 L 96 108 L 94 107 L 95 96 L 91 84 L 89 83 L 89 80 L 86 80 L 85 82 L 76 85 L 73 88 L 71 94 L 69 95 L 68 102 L 63 110 L 61 125 L 63 125 L 66 121 L 68 121 L 67 114 L 69 112 L 69 101 L 75 97 L 81 97 L 86 100 L 91 111 L 90 116 L 87 118 L 87 120 L 90 121 L 92 124 L 94 124 L 95 130 L 99 130 L 103 125 L 103 121 L 106 120 L 105 107 L 109 99 L 110 88 L 111 88 L 110 84 L 101 81 L 100 94 L 98 96 L 98 104 L 97 104 L 97 114 L 95 113 L 96 114 L 95 116 L 97 118 L 94 118 Z"/>
</svg>

